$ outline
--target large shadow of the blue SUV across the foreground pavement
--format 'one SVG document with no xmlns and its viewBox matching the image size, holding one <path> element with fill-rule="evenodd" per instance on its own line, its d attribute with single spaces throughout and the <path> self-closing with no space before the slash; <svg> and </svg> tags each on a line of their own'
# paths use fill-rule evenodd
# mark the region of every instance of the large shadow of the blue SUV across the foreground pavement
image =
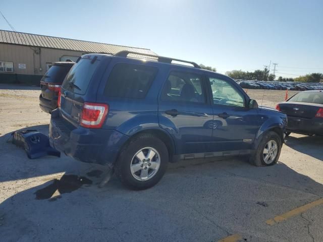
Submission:
<svg viewBox="0 0 323 242">
<path fill-rule="evenodd" d="M 127 190 L 117 179 L 98 189 L 92 180 L 81 181 L 81 175 L 30 186 L 6 198 L 0 204 L 4 241 L 210 241 L 237 225 L 244 231 L 246 220 L 246 226 L 266 234 L 259 219 L 293 208 L 291 201 L 303 205 L 323 195 L 321 184 L 281 162 L 255 167 L 243 159 L 180 161 L 144 191 Z M 241 211 L 246 214 L 230 216 Z M 136 236 L 147 224 L 154 232 Z M 268 237 L 278 239 L 291 240 Z"/>
</svg>

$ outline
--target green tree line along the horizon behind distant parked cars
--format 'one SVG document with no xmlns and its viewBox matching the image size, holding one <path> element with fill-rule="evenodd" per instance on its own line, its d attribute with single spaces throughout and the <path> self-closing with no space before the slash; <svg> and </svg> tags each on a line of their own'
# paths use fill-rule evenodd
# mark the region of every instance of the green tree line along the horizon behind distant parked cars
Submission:
<svg viewBox="0 0 323 242">
<path fill-rule="evenodd" d="M 204 66 L 200 64 L 200 67 L 205 70 L 216 72 L 217 69 L 214 67 Z M 269 69 L 265 68 L 264 70 L 255 70 L 254 72 L 244 72 L 242 70 L 232 70 L 226 72 L 226 75 L 235 79 L 235 80 L 257 80 L 257 81 L 274 81 L 276 80 L 276 75 L 270 74 Z M 285 78 L 278 77 L 277 81 L 280 82 L 320 82 L 323 81 L 322 73 L 311 73 L 304 76 L 299 76 L 296 78 Z"/>
</svg>

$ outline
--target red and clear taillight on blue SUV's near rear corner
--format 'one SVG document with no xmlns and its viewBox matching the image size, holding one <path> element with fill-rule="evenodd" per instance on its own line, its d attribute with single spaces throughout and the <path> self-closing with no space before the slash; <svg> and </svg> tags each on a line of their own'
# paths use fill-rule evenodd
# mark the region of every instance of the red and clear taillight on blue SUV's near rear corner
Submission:
<svg viewBox="0 0 323 242">
<path fill-rule="evenodd" d="M 108 111 L 107 104 L 85 102 L 80 125 L 85 128 L 99 129 L 102 127 Z"/>
</svg>

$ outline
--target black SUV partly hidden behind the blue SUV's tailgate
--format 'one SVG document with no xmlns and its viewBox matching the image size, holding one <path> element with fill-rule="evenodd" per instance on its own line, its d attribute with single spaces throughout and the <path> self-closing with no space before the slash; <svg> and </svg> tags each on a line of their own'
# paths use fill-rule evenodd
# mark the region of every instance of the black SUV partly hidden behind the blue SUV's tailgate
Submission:
<svg viewBox="0 0 323 242">
<path fill-rule="evenodd" d="M 64 78 L 74 62 L 55 62 L 40 80 L 41 94 L 39 106 L 41 110 L 51 113 L 57 108 L 57 100 Z"/>
</svg>

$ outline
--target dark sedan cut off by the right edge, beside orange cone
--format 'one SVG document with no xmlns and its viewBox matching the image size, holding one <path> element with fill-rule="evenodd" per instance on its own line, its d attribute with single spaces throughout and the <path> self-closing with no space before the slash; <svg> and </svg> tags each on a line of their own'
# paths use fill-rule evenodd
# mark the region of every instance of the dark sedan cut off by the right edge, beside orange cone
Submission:
<svg viewBox="0 0 323 242">
<path fill-rule="evenodd" d="M 323 135 L 323 91 L 299 92 L 276 109 L 287 114 L 287 135 Z"/>
</svg>

